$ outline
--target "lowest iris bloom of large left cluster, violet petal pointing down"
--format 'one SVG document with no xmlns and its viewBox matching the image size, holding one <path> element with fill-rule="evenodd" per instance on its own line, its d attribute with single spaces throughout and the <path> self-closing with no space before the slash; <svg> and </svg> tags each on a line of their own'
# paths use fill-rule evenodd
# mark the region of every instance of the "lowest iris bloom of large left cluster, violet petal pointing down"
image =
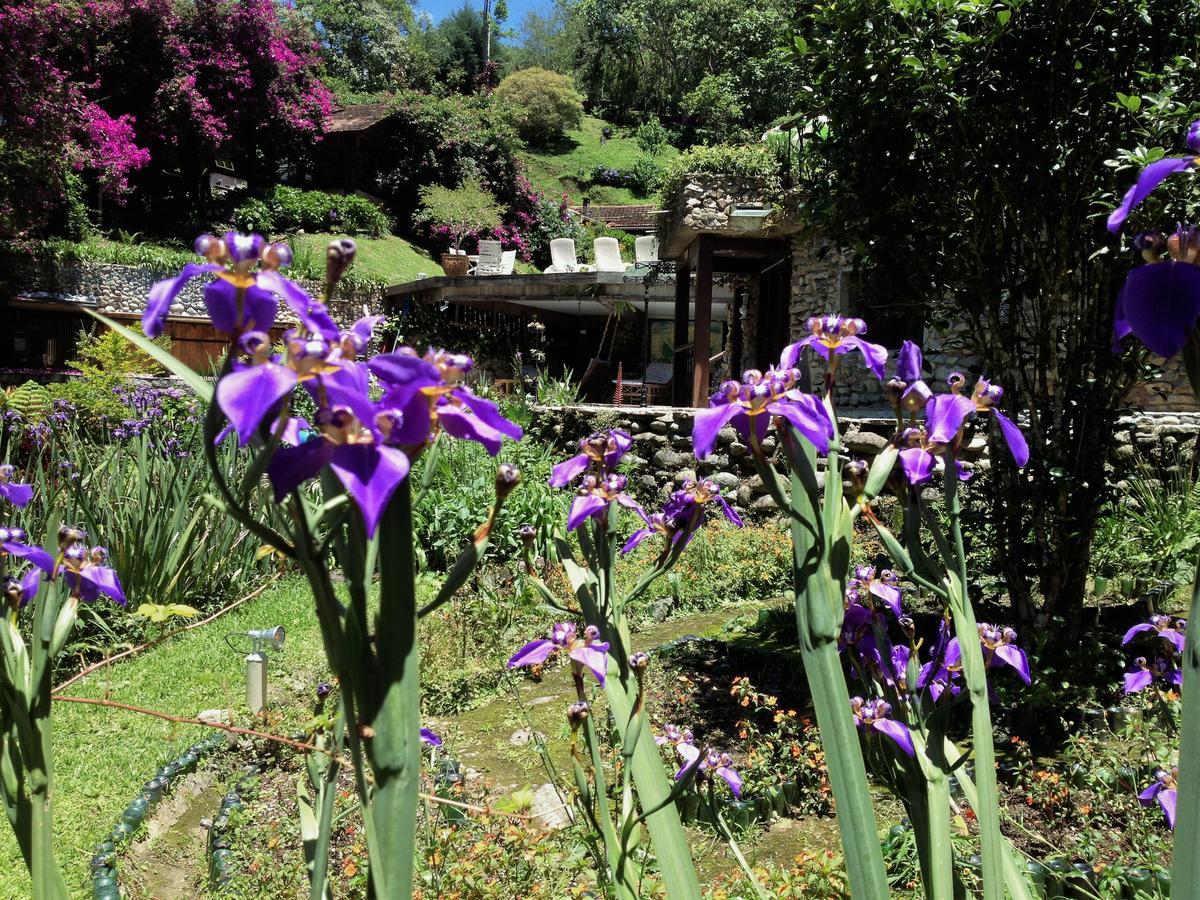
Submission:
<svg viewBox="0 0 1200 900">
<path fill-rule="evenodd" d="M 373 403 L 366 395 L 347 395 L 352 406 L 318 412 L 320 434 L 298 446 L 275 451 L 266 475 L 281 502 L 325 466 L 354 498 L 367 534 L 374 535 L 388 500 L 408 475 L 408 455 L 392 439 L 402 415 Z"/>
</svg>

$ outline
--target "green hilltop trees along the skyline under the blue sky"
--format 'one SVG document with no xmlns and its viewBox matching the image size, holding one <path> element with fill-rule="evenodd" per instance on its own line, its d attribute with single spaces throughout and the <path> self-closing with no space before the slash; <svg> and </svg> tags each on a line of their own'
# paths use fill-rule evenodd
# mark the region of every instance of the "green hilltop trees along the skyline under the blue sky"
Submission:
<svg viewBox="0 0 1200 900">
<path fill-rule="evenodd" d="M 520 70 L 571 77 L 588 106 L 625 125 L 658 116 L 685 140 L 739 139 L 791 112 L 798 26 L 786 0 L 557 0 L 514 26 L 503 0 L 433 25 L 406 0 L 299 0 L 340 95 L 470 94 Z M 506 38 L 502 42 L 499 38 Z"/>
</svg>

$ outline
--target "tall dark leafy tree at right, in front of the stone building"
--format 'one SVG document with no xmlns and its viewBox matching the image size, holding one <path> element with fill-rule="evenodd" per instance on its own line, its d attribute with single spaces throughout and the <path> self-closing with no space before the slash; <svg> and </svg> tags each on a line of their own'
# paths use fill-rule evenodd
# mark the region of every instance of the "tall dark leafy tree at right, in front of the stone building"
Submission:
<svg viewBox="0 0 1200 900">
<path fill-rule="evenodd" d="M 857 244 L 862 313 L 960 329 L 1027 416 L 1030 466 L 996 464 L 977 533 L 1027 622 L 1081 626 L 1116 410 L 1146 362 L 1111 349 L 1132 258 L 1105 217 L 1200 115 L 1198 36 L 1200 8 L 1171 0 L 826 0 L 794 44 L 803 184 Z M 1188 221 L 1182 190 L 1134 224 Z"/>
</svg>

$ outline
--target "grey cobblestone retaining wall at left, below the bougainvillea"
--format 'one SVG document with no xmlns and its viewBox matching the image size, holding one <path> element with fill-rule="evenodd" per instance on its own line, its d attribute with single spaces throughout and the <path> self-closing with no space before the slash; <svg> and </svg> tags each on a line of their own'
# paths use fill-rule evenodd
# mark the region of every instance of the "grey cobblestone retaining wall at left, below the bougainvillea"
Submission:
<svg viewBox="0 0 1200 900">
<path fill-rule="evenodd" d="M 30 266 L 28 271 L 10 276 L 8 282 L 12 293 L 25 299 L 74 301 L 94 306 L 104 313 L 140 316 L 145 310 L 150 287 L 173 275 L 175 272 L 164 272 L 149 266 L 83 262 Z M 172 304 L 170 314 L 208 318 L 204 284 L 209 278 L 211 276 L 188 282 Z M 322 288 L 316 282 L 301 281 L 300 284 L 314 296 Z M 364 310 L 368 312 L 365 313 Z M 379 314 L 382 310 L 382 294 L 378 290 L 338 292 L 331 312 L 335 319 L 348 324 L 364 314 Z"/>
</svg>

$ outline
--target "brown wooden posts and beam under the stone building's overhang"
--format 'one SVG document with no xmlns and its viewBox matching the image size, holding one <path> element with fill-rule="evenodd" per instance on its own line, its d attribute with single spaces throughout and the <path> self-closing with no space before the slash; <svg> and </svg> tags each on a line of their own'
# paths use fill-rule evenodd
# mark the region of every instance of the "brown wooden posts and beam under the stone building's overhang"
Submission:
<svg viewBox="0 0 1200 900">
<path fill-rule="evenodd" d="M 678 241 L 677 241 L 678 242 Z M 786 260 L 791 254 L 782 238 L 749 238 L 720 234 L 694 234 L 690 241 L 672 247 L 676 259 L 674 299 L 674 376 L 672 406 L 708 406 L 710 394 L 710 328 L 713 316 L 713 283 L 716 275 L 757 276 L 763 270 Z M 667 257 L 667 258 L 672 258 Z M 695 274 L 695 296 L 691 296 L 691 275 Z M 734 304 L 736 305 L 736 304 Z M 688 341 L 688 323 L 694 320 L 692 338 Z M 730 328 L 739 329 L 737 316 L 730 316 Z M 739 337 L 734 332 L 734 337 Z M 689 362 L 691 379 L 688 379 Z M 736 360 L 731 360 L 737 366 Z"/>
</svg>

